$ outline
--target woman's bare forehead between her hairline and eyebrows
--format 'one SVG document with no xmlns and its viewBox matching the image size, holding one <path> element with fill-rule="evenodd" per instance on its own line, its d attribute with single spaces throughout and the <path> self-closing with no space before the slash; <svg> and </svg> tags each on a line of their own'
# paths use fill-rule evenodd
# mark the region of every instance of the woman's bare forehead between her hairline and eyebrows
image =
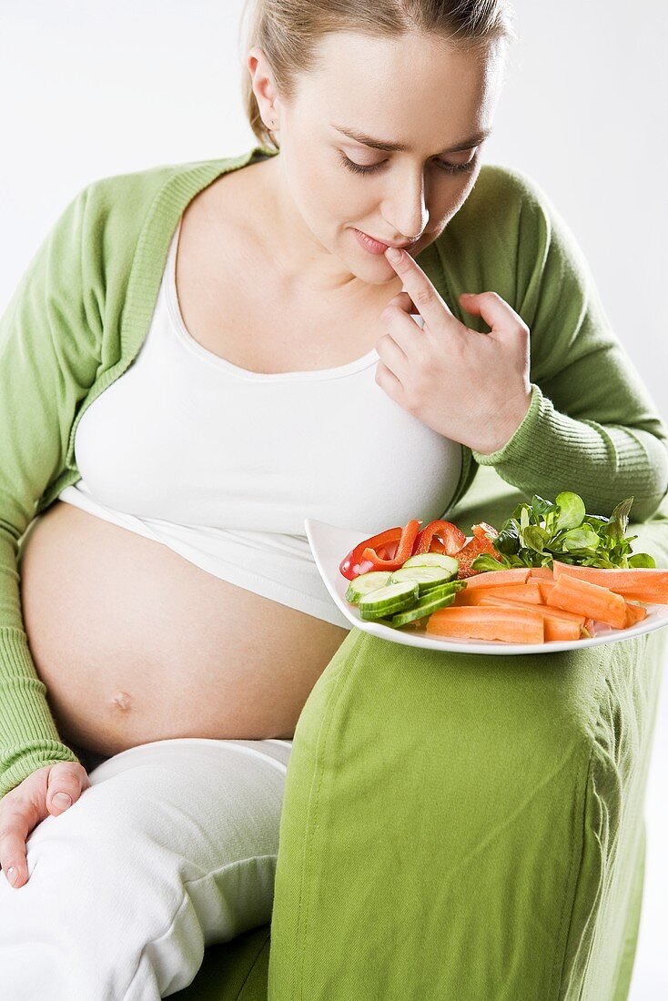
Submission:
<svg viewBox="0 0 668 1001">
<path fill-rule="evenodd" d="M 353 127 L 416 150 L 445 149 L 491 127 L 501 62 L 495 46 L 457 51 L 434 35 L 337 32 L 318 43 L 317 66 L 300 81 L 297 99 L 325 126 Z"/>
</svg>

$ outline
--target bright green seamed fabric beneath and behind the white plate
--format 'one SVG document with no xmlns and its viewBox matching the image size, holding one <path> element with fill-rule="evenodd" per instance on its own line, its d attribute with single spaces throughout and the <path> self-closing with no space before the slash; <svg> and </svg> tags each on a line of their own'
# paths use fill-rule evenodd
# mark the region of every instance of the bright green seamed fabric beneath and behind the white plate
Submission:
<svg viewBox="0 0 668 1001">
<path fill-rule="evenodd" d="M 481 468 L 452 519 L 498 526 L 521 497 Z M 632 528 L 668 567 L 668 498 Z M 623 1001 L 664 649 L 661 630 L 492 657 L 354 629 L 295 731 L 271 924 L 172 996 Z"/>
</svg>

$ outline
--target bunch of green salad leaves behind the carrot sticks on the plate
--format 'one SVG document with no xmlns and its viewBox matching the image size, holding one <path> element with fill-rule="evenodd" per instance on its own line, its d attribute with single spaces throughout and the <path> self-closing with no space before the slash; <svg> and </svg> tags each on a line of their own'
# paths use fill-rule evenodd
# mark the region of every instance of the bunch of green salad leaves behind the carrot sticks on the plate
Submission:
<svg viewBox="0 0 668 1001">
<path fill-rule="evenodd" d="M 529 504 L 517 506 L 492 539 L 496 556 L 476 557 L 472 568 L 552 567 L 553 560 L 608 570 L 654 568 L 648 553 L 633 554 L 631 543 L 638 537 L 626 535 L 632 505 L 633 497 L 627 497 L 605 518 L 588 515 L 582 497 L 571 490 L 558 493 L 555 500 L 535 493 Z"/>
</svg>

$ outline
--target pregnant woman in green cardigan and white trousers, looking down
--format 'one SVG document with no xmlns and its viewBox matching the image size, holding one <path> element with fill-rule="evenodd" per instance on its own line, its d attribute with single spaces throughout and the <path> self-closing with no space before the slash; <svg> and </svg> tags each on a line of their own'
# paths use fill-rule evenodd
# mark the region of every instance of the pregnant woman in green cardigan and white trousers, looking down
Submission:
<svg viewBox="0 0 668 1001">
<path fill-rule="evenodd" d="M 269 920 L 350 629 L 304 518 L 442 518 L 479 464 L 602 514 L 666 491 L 569 230 L 482 164 L 509 5 L 251 14 L 260 145 L 89 184 L 2 318 L 3 997 L 164 997 Z"/>
</svg>

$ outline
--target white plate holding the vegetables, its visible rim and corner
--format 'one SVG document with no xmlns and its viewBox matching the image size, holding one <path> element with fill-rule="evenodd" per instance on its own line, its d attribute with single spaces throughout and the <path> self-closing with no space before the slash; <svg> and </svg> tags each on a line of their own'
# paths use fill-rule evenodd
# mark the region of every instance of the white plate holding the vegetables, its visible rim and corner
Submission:
<svg viewBox="0 0 668 1001">
<path fill-rule="evenodd" d="M 344 557 L 354 547 L 365 539 L 369 533 L 355 532 L 353 529 L 342 529 L 326 522 L 318 522 L 313 518 L 303 521 L 306 538 L 313 554 L 315 566 L 331 595 L 346 618 L 365 633 L 391 640 L 394 643 L 404 643 L 407 647 L 426 647 L 428 650 L 457 651 L 463 654 L 550 654 L 557 650 L 581 650 L 583 647 L 597 647 L 601 643 L 617 643 L 620 640 L 630 640 L 634 636 L 652 633 L 656 629 L 668 626 L 668 605 L 648 605 L 647 618 L 629 629 L 613 629 L 603 623 L 597 623 L 597 635 L 591 640 L 549 640 L 546 643 L 497 643 L 489 640 L 450 640 L 445 637 L 430 636 L 422 629 L 393 629 L 382 623 L 368 622 L 362 619 L 357 606 L 350 605 L 345 598 L 350 581 L 344 577 L 339 566 Z"/>
</svg>

